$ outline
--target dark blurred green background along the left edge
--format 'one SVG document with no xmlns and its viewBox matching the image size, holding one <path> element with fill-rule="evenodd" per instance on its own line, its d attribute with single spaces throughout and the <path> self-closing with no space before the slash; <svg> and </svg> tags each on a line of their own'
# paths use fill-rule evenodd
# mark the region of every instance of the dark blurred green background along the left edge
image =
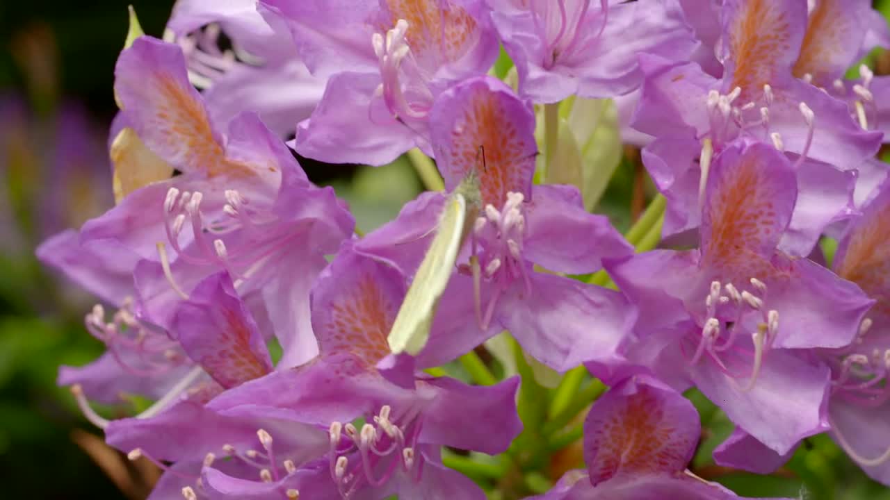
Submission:
<svg viewBox="0 0 890 500">
<path fill-rule="evenodd" d="M 105 144 L 129 3 L 160 36 L 172 0 L 0 2 L 3 498 L 125 498 L 102 467 L 138 477 L 55 388 L 60 364 L 95 358 L 101 343 L 83 327 L 90 298 L 31 257 L 37 242 L 113 202 Z"/>
</svg>

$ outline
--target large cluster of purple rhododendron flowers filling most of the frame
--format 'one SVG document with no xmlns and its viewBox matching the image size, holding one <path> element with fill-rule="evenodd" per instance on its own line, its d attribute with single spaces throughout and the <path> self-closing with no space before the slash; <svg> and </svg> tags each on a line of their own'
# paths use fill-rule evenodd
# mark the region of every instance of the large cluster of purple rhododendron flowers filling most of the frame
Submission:
<svg viewBox="0 0 890 500">
<path fill-rule="evenodd" d="M 717 464 L 770 473 L 829 432 L 890 485 L 890 78 L 845 77 L 876 46 L 890 30 L 867 0 L 181 0 L 163 40 L 133 22 L 117 60 L 116 206 L 38 249 L 115 308 L 86 315 L 107 352 L 59 383 L 164 469 L 152 500 L 484 499 L 442 450 L 510 448 L 520 377 L 435 367 L 506 330 L 519 359 L 611 387 L 587 470 L 536 498 L 738 498 L 686 470 L 692 387 L 735 425 Z M 687 249 L 641 247 L 651 228 L 625 238 L 559 183 L 558 149 L 607 98 L 661 193 L 643 219 Z M 290 148 L 411 150 L 444 190 L 361 234 Z M 429 340 L 393 353 L 468 175 L 478 210 Z M 115 420 L 88 402 L 121 394 L 156 402 Z"/>
</svg>

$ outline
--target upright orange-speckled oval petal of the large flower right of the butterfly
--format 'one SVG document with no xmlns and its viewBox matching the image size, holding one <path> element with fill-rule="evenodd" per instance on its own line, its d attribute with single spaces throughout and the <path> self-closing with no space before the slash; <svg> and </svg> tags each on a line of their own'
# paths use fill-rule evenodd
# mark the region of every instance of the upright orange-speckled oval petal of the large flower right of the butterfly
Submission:
<svg viewBox="0 0 890 500">
<path fill-rule="evenodd" d="M 760 276 L 797 199 L 789 160 L 761 143 L 725 149 L 711 166 L 702 214 L 702 257 L 732 276 Z"/>
</svg>

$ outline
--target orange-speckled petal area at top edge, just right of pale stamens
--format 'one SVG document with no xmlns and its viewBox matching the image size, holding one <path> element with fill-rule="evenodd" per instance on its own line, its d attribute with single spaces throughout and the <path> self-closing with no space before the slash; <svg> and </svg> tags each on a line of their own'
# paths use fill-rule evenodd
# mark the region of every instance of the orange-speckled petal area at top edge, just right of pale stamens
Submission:
<svg viewBox="0 0 890 500">
<path fill-rule="evenodd" d="M 465 55 L 478 41 L 477 23 L 448 0 L 387 0 L 392 25 L 407 20 L 408 42 L 421 64 L 434 69 Z"/>
</svg>

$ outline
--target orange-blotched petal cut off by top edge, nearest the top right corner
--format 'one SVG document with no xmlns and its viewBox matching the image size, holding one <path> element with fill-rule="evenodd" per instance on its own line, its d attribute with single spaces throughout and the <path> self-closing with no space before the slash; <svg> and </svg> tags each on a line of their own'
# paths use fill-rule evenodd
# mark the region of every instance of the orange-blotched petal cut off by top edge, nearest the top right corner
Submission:
<svg viewBox="0 0 890 500">
<path fill-rule="evenodd" d="M 855 59 L 865 36 L 863 8 L 871 7 L 850 0 L 818 0 L 810 12 L 794 76 L 809 74 L 824 82 L 842 75 Z"/>
</svg>

